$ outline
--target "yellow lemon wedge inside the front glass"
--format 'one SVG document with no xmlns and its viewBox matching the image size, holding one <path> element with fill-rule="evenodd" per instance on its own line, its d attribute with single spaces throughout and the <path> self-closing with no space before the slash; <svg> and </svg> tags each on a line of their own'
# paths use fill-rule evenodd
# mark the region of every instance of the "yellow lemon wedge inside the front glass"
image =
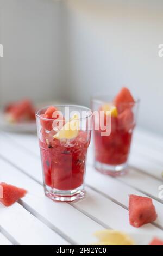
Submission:
<svg viewBox="0 0 163 256">
<path fill-rule="evenodd" d="M 68 121 L 62 129 L 57 132 L 53 137 L 55 139 L 73 139 L 78 136 L 80 130 L 80 121 L 77 114 Z"/>
</svg>

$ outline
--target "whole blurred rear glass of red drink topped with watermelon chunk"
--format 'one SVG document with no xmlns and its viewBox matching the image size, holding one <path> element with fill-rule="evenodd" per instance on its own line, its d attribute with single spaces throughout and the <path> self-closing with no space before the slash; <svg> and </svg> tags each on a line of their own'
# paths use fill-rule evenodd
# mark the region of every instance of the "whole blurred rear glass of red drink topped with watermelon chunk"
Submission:
<svg viewBox="0 0 163 256">
<path fill-rule="evenodd" d="M 99 114 L 93 115 L 93 130 L 95 167 L 100 172 L 112 176 L 126 173 L 138 105 L 127 88 L 114 100 L 108 96 L 92 100 L 92 109 Z"/>
</svg>

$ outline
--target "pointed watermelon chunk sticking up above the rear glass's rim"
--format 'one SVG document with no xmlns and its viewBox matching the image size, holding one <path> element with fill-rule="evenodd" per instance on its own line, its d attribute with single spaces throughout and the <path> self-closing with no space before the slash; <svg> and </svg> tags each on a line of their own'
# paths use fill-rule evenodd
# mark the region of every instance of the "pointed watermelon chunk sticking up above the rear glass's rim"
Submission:
<svg viewBox="0 0 163 256">
<path fill-rule="evenodd" d="M 133 107 L 135 102 L 130 90 L 123 87 L 114 99 L 114 104 L 117 106 L 118 113 L 122 113 L 125 109 Z"/>
</svg>

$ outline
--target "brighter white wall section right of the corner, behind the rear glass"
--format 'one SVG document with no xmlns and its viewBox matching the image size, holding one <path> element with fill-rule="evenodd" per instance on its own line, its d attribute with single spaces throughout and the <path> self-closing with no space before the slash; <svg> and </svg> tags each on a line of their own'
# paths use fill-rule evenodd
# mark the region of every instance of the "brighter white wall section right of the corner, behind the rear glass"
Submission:
<svg viewBox="0 0 163 256">
<path fill-rule="evenodd" d="M 89 105 L 126 84 L 141 98 L 139 125 L 163 135 L 163 2 L 65 0 L 63 9 L 69 99 Z"/>
</svg>

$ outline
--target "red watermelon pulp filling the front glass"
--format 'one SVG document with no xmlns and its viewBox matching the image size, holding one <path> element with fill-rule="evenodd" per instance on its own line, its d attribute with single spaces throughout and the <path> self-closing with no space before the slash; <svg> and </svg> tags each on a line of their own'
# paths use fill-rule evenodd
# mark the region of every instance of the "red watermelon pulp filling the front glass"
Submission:
<svg viewBox="0 0 163 256">
<path fill-rule="evenodd" d="M 45 184 L 56 190 L 73 190 L 81 186 L 88 146 L 87 133 L 84 131 L 79 131 L 78 136 L 69 142 L 53 139 L 47 144 L 44 137 L 40 141 L 40 151 Z"/>
</svg>

